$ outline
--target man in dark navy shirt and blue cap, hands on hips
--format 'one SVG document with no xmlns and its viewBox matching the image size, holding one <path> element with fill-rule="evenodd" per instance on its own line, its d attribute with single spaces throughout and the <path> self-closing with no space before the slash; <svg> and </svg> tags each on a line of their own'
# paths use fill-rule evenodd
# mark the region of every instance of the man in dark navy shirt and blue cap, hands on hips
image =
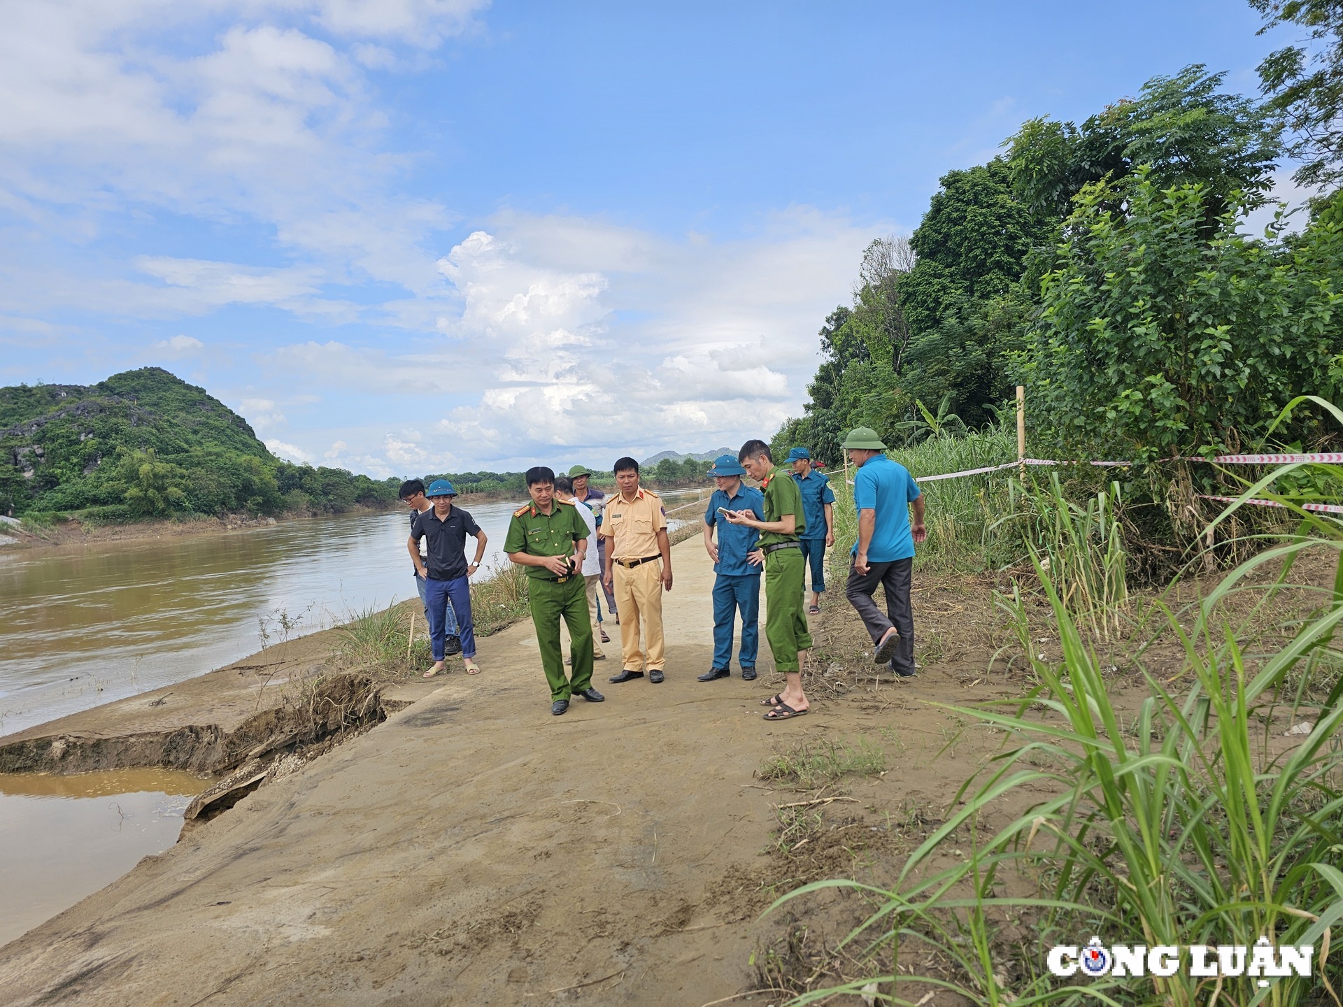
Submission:
<svg viewBox="0 0 1343 1007">
<path fill-rule="evenodd" d="M 469 512 L 453 506 L 457 490 L 447 479 L 434 479 L 426 494 L 434 506 L 411 521 L 411 537 L 406 546 L 415 572 L 424 577 L 424 604 L 428 608 L 428 636 L 434 647 L 434 667 L 424 673 L 432 678 L 443 670 L 443 649 L 446 638 L 446 608 L 451 602 L 457 612 L 458 635 L 462 639 L 462 661 L 466 673 L 475 675 L 481 669 L 475 663 L 475 632 L 471 626 L 471 587 L 467 580 L 481 568 L 485 544 L 489 541 L 475 518 Z M 466 561 L 466 536 L 475 538 L 475 559 Z M 424 540 L 424 556 L 420 556 L 420 540 Z"/>
</svg>

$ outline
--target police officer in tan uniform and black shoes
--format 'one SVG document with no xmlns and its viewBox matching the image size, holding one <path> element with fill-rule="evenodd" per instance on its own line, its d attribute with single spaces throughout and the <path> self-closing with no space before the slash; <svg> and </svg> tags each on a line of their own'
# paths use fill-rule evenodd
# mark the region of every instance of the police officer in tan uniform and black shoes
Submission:
<svg viewBox="0 0 1343 1007">
<path fill-rule="evenodd" d="M 606 502 L 598 534 L 608 540 L 602 583 L 615 589 L 620 612 L 623 670 L 611 682 L 643 678 L 657 685 L 666 670 L 662 639 L 662 592 L 672 589 L 672 542 L 662 498 L 639 486 L 639 463 L 619 458 L 614 466 L 619 493 Z M 639 628 L 646 647 L 639 647 Z M 577 665 L 575 663 L 575 667 Z"/>
</svg>

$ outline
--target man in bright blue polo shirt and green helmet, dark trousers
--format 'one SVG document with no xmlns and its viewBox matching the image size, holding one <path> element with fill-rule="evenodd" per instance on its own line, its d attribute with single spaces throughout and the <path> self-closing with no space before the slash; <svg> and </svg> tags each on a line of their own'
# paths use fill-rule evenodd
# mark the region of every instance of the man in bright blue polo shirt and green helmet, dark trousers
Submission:
<svg viewBox="0 0 1343 1007">
<path fill-rule="evenodd" d="M 890 662 L 892 671 L 908 678 L 915 673 L 915 618 L 909 608 L 915 542 L 928 537 L 923 495 L 909 470 L 886 458 L 886 446 L 870 427 L 850 430 L 843 448 L 858 466 L 853 477 L 858 541 L 853 545 L 845 596 L 872 635 L 873 661 Z M 872 599 L 878 584 L 886 592 L 885 614 Z"/>
</svg>

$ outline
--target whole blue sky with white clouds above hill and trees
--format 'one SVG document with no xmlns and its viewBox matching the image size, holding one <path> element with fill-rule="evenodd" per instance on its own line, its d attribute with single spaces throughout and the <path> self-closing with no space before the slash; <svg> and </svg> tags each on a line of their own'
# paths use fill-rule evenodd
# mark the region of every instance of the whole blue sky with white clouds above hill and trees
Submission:
<svg viewBox="0 0 1343 1007">
<path fill-rule="evenodd" d="M 1240 0 L 5 21 L 0 384 L 156 364 L 277 454 L 380 477 L 768 436 L 939 176 L 1189 63 L 1254 93 L 1289 38 Z"/>
</svg>

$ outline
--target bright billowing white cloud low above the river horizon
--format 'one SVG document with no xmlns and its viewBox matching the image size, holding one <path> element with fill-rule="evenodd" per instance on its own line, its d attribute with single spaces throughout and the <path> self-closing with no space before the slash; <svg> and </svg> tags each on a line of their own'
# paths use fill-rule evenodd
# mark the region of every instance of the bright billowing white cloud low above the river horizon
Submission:
<svg viewBox="0 0 1343 1007">
<path fill-rule="evenodd" d="M 357 448 L 393 471 L 454 470 L 457 458 L 522 465 L 556 447 L 740 443 L 800 410 L 815 333 L 849 299 L 872 235 L 889 230 L 794 208 L 751 239 L 669 240 L 501 213 L 439 260 L 461 307 L 441 316 L 436 345 L 389 354 L 308 342 L 270 360 L 324 387 L 435 393 L 424 401 L 442 404 L 441 420 L 424 436 Z"/>
</svg>

